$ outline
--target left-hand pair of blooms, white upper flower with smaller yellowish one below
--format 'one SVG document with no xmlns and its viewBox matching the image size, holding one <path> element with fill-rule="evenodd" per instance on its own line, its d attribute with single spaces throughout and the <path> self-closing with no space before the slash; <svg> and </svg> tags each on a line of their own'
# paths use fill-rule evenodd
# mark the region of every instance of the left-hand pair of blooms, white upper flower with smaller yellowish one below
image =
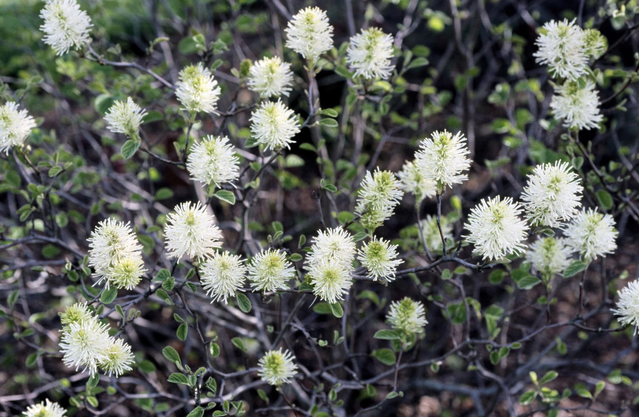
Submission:
<svg viewBox="0 0 639 417">
<path fill-rule="evenodd" d="M 96 285 L 104 281 L 105 289 L 111 285 L 118 289 L 133 289 L 142 279 L 144 261 L 142 246 L 131 226 L 107 218 L 98 223 L 89 242 L 89 266 L 99 277 Z"/>
</svg>

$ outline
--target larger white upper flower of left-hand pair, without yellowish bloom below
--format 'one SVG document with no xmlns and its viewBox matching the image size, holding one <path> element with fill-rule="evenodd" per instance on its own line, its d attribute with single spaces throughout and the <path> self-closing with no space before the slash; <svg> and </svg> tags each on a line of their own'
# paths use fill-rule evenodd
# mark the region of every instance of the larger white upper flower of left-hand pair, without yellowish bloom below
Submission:
<svg viewBox="0 0 639 417">
<path fill-rule="evenodd" d="M 107 218 L 107 220 L 98 223 L 87 241 L 89 248 L 91 248 L 89 250 L 89 266 L 95 267 L 95 273 L 100 277 L 98 284 L 102 280 L 106 280 L 107 285 L 109 284 L 111 277 L 109 268 L 118 264 L 122 259 L 130 258 L 139 261 L 139 263 L 142 262 L 142 246 L 138 243 L 137 236 L 128 223 Z"/>
</svg>

